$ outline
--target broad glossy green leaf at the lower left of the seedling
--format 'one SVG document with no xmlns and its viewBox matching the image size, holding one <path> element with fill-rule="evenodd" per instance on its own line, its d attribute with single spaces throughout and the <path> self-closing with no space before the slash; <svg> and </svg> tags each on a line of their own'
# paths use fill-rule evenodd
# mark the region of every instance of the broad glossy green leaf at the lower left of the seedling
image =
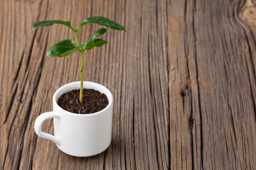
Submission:
<svg viewBox="0 0 256 170">
<path fill-rule="evenodd" d="M 73 40 L 62 40 L 47 50 L 48 57 L 65 57 L 78 51 L 81 46 L 76 46 Z"/>
</svg>

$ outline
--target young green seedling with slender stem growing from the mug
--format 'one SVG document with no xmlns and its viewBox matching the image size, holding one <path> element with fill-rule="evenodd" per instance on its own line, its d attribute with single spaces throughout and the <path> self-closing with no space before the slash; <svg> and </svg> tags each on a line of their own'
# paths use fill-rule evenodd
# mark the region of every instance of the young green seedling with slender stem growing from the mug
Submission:
<svg viewBox="0 0 256 170">
<path fill-rule="evenodd" d="M 107 44 L 108 42 L 105 40 L 101 40 L 99 38 L 96 38 L 100 35 L 103 35 L 106 33 L 105 28 L 98 29 L 95 31 L 92 36 L 89 38 L 88 41 L 86 41 L 84 44 L 80 44 L 78 37 L 77 37 L 77 31 L 84 25 L 86 24 L 99 24 L 102 26 L 107 26 L 110 29 L 115 29 L 115 30 L 121 30 L 121 31 L 126 31 L 124 26 L 121 24 L 110 20 L 109 18 L 105 17 L 90 17 L 85 19 L 80 26 L 76 28 L 72 28 L 70 21 L 61 21 L 61 20 L 47 20 L 47 21 L 38 21 L 33 24 L 32 30 L 39 28 L 39 27 L 44 27 L 44 26 L 51 26 L 54 24 L 62 24 L 67 27 L 69 27 L 75 35 L 76 38 L 76 43 L 73 40 L 62 40 L 60 42 L 57 42 L 54 44 L 52 47 L 50 47 L 47 50 L 47 56 L 48 57 L 65 57 L 67 55 L 70 55 L 74 53 L 75 51 L 79 51 L 81 53 L 81 67 L 80 67 L 80 96 L 79 96 L 79 102 L 83 102 L 83 63 L 84 63 L 84 50 L 90 50 L 93 49 L 94 46 L 96 47 L 101 47 L 104 44 Z"/>
</svg>

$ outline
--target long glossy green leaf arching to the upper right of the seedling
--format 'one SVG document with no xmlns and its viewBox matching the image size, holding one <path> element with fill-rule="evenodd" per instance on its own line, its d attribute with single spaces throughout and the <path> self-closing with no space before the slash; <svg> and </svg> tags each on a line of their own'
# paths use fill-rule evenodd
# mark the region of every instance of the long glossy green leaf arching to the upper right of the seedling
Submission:
<svg viewBox="0 0 256 170">
<path fill-rule="evenodd" d="M 107 26 L 110 29 L 115 29 L 115 30 L 121 30 L 121 31 L 126 31 L 124 26 L 122 26 L 121 24 L 110 20 L 109 18 L 106 17 L 90 17 L 85 19 L 81 25 L 78 27 L 78 29 L 80 29 L 82 26 L 86 25 L 86 24 L 99 24 L 102 26 Z M 78 30 L 77 29 L 77 30 Z"/>
</svg>

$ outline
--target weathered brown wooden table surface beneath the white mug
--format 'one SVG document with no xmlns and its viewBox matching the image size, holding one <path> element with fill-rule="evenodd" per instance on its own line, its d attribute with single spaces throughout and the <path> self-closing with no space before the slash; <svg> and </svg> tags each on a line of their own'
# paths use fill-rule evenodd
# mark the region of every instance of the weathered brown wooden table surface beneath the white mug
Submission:
<svg viewBox="0 0 256 170">
<path fill-rule="evenodd" d="M 84 80 L 114 96 L 112 142 L 72 157 L 34 132 L 52 96 L 79 81 L 79 53 L 49 58 L 74 39 L 40 20 L 104 16 L 108 44 L 85 51 Z M 79 30 L 88 40 L 97 25 Z M 0 170 L 255 170 L 256 0 L 1 0 Z M 54 133 L 51 119 L 42 130 Z"/>
</svg>

